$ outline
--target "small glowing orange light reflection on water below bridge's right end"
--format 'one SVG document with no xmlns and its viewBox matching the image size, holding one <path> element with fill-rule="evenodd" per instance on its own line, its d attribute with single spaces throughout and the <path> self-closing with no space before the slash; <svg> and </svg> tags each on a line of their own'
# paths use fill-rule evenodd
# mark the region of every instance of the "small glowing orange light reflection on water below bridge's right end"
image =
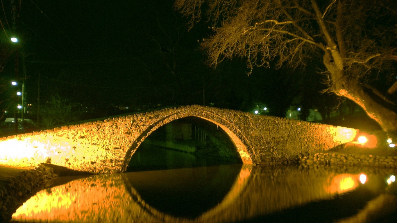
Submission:
<svg viewBox="0 0 397 223">
<path fill-rule="evenodd" d="M 354 174 L 341 174 L 333 177 L 331 185 L 328 187 L 330 193 L 342 193 L 353 190 L 358 186 L 358 176 Z"/>
</svg>

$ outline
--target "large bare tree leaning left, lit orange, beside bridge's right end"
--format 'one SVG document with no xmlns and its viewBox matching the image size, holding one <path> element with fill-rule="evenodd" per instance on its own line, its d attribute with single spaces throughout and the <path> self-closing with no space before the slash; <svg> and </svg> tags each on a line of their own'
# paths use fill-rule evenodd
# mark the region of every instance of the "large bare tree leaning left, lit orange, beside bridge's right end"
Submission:
<svg viewBox="0 0 397 223">
<path fill-rule="evenodd" d="M 273 62 L 296 68 L 318 61 L 324 92 L 353 100 L 385 131 L 396 132 L 395 104 L 387 94 L 397 84 L 388 93 L 369 85 L 396 68 L 396 1 L 176 0 L 175 8 L 190 28 L 203 13 L 211 24 L 214 34 L 201 44 L 208 64 L 239 56 L 250 74 Z"/>
</svg>

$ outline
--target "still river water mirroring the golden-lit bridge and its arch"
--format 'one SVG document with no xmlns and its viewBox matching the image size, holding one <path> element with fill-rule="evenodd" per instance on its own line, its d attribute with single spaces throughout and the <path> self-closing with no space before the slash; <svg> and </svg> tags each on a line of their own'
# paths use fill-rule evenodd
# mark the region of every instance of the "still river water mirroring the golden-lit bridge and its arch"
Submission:
<svg viewBox="0 0 397 223">
<path fill-rule="evenodd" d="M 38 192 L 12 221 L 377 222 L 396 216 L 388 175 L 336 172 L 220 165 L 94 175 Z"/>
</svg>

